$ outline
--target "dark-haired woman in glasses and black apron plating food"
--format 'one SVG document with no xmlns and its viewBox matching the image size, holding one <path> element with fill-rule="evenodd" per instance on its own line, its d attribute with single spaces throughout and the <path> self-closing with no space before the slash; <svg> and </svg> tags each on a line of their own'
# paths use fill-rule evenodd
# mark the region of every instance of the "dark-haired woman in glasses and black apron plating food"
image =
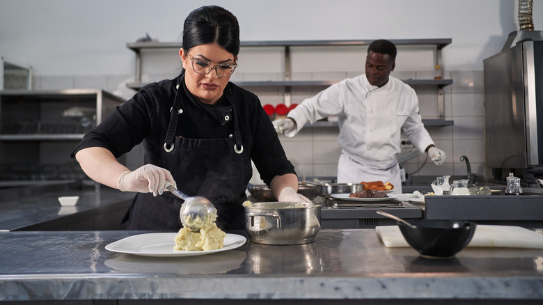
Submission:
<svg viewBox="0 0 543 305">
<path fill-rule="evenodd" d="M 244 228 L 251 159 L 278 201 L 308 201 L 297 194 L 294 166 L 260 100 L 229 82 L 238 53 L 232 13 L 219 6 L 192 11 L 184 21 L 181 75 L 141 88 L 75 148 L 72 156 L 90 178 L 139 193 L 125 217 L 127 229 L 181 228 L 182 201 L 163 194 L 166 181 L 210 199 L 219 228 Z M 116 157 L 141 141 L 145 165 L 129 171 Z"/>
</svg>

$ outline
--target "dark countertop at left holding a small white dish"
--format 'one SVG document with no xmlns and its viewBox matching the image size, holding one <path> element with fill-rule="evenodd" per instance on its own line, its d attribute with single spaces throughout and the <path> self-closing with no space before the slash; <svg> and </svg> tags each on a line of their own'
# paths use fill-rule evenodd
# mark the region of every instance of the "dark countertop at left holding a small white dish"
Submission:
<svg viewBox="0 0 543 305">
<path fill-rule="evenodd" d="M 63 207 L 60 196 L 79 196 L 79 201 Z M 0 230 L 118 229 L 134 196 L 81 182 L 1 189 Z"/>
</svg>

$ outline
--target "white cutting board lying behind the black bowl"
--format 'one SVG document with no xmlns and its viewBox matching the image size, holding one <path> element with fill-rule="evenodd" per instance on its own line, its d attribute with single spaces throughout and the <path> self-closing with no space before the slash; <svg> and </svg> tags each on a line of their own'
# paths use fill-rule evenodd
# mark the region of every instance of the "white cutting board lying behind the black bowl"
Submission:
<svg viewBox="0 0 543 305">
<path fill-rule="evenodd" d="M 377 226 L 377 235 L 386 247 L 409 247 L 398 226 Z M 543 249 L 543 234 L 519 226 L 477 225 L 468 247 Z"/>
</svg>

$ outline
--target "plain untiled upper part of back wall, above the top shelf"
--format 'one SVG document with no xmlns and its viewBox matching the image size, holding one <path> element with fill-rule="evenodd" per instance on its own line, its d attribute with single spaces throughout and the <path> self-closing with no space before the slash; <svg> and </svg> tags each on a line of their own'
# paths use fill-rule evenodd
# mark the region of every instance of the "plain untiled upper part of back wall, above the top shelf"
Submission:
<svg viewBox="0 0 543 305">
<path fill-rule="evenodd" d="M 36 75 L 124 75 L 145 33 L 178 41 L 198 6 L 231 10 L 242 40 L 453 38 L 448 70 L 482 70 L 517 29 L 517 0 L 0 0 L 0 55 Z M 534 19 L 543 22 L 543 1 Z M 539 9 L 537 9 L 539 8 Z"/>
</svg>

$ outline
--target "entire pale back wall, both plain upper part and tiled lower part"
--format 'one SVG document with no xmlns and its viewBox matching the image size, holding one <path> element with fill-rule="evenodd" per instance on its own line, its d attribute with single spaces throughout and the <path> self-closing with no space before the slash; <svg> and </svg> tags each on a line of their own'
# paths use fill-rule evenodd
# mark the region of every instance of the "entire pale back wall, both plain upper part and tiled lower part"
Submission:
<svg viewBox="0 0 543 305">
<path fill-rule="evenodd" d="M 534 1 L 534 23 L 542 29 L 543 0 Z M 135 56 L 127 42 L 149 33 L 161 42 L 180 41 L 182 22 L 203 5 L 217 4 L 237 15 L 242 40 L 340 40 L 452 38 L 443 49 L 446 86 L 445 115 L 453 126 L 427 127 L 436 146 L 445 150 L 443 166 L 427 163 L 416 175 L 466 175 L 459 162 L 467 155 L 473 172 L 488 175 L 485 164 L 485 106 L 482 60 L 498 53 L 508 33 L 518 29 L 517 0 L 0 0 L 0 56 L 32 65 L 34 89 L 104 88 L 130 97 L 126 87 L 134 81 Z M 274 53 L 275 52 L 275 53 Z M 299 52 L 299 53 L 297 53 Z M 339 48 L 331 51 L 294 50 L 293 79 L 339 80 L 363 72 L 364 52 Z M 257 52 L 259 53 L 259 52 Z M 264 53 L 265 54 L 265 53 Z M 280 53 L 279 53 L 280 54 Z M 337 66 L 333 56 L 350 65 Z M 240 53 L 233 80 L 281 79 L 281 56 L 270 50 L 265 64 L 262 52 Z M 178 74 L 176 52 L 146 54 L 143 81 Z M 434 52 L 399 47 L 398 78 L 429 78 Z M 316 62 L 324 62 L 317 65 Z M 346 62 L 346 61 L 344 61 Z M 430 78 L 432 76 L 430 75 Z M 262 104 L 282 102 L 280 88 L 249 88 Z M 292 102 L 322 88 L 297 88 Z M 416 88 L 423 118 L 436 118 L 436 91 Z M 298 173 L 336 175 L 340 148 L 337 128 L 304 128 L 294 139 L 281 141 Z M 414 172 L 424 157 L 411 160 Z"/>
</svg>

